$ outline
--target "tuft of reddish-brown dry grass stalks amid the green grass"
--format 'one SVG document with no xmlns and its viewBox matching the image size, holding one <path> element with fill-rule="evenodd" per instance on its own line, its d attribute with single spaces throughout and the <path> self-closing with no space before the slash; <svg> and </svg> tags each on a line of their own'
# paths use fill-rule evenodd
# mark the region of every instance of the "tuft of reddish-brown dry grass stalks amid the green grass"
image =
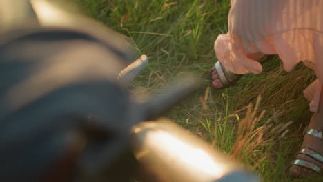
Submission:
<svg viewBox="0 0 323 182">
<path fill-rule="evenodd" d="M 231 151 L 231 157 L 244 161 L 248 156 L 257 156 L 257 152 L 261 152 L 262 156 L 254 159 L 257 161 L 253 164 L 253 168 L 257 168 L 262 161 L 266 160 L 266 156 L 271 156 L 267 150 L 271 146 L 271 142 L 275 141 L 288 132 L 287 128 L 292 122 L 278 124 L 273 127 L 272 123 L 266 122 L 263 125 L 260 121 L 264 117 L 265 110 L 258 110 L 261 97 L 257 98 L 255 107 L 252 104 L 248 105 L 246 116 L 238 124 L 237 139 Z"/>
</svg>

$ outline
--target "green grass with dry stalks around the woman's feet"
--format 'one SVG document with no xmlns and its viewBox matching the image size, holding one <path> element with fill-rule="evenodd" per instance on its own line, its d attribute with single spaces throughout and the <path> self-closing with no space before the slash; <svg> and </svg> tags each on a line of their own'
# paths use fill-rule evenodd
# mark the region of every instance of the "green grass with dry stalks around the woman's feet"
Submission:
<svg viewBox="0 0 323 182">
<path fill-rule="evenodd" d="M 150 58 L 133 92 L 151 92 L 183 72 L 204 78 L 166 117 L 239 159 L 263 181 L 323 181 L 286 175 L 311 117 L 302 95 L 315 79 L 311 70 L 300 64 L 288 73 L 279 58 L 269 57 L 261 74 L 246 74 L 231 88 L 209 88 L 209 70 L 217 61 L 213 43 L 227 32 L 229 0 L 77 1 L 90 16 L 129 37 L 136 56 Z"/>
</svg>

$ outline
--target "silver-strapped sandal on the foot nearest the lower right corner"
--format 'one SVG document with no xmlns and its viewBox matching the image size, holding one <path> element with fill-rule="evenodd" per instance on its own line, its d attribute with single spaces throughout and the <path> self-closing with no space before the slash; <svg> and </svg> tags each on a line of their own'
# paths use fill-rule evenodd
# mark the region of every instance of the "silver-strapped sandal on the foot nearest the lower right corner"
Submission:
<svg viewBox="0 0 323 182">
<path fill-rule="evenodd" d="M 304 130 L 304 134 L 310 134 L 312 136 L 315 136 L 321 141 L 323 141 L 323 132 L 322 130 L 317 131 L 311 128 L 306 127 Z M 311 158 L 315 159 L 316 161 L 320 161 L 320 163 L 323 163 L 323 156 L 315 152 L 315 150 L 312 150 L 311 148 L 302 148 L 298 154 L 304 154 L 306 156 L 310 156 Z M 304 168 L 308 168 L 310 170 L 313 170 L 317 173 L 322 172 L 322 169 L 320 166 L 316 165 L 315 163 L 311 163 L 310 161 L 306 161 L 304 159 L 295 159 L 294 161 L 291 162 L 291 165 L 299 165 Z"/>
</svg>

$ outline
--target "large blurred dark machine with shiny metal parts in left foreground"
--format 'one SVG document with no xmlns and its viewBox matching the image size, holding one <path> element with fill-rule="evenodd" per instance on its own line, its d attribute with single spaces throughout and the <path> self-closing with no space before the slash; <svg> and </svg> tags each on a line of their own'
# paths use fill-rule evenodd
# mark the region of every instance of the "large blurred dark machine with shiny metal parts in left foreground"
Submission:
<svg viewBox="0 0 323 182">
<path fill-rule="evenodd" d="M 131 63 L 120 34 L 30 2 L 0 0 L 0 181 L 256 181 L 197 136 L 152 121 L 196 90 L 195 76 L 139 101 L 128 83 L 148 57 Z"/>
</svg>

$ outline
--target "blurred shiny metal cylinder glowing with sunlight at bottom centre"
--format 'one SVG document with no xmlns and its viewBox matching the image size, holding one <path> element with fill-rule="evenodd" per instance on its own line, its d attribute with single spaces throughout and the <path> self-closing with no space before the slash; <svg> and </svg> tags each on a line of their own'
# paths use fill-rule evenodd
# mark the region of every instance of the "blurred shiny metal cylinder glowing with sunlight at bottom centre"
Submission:
<svg viewBox="0 0 323 182">
<path fill-rule="evenodd" d="M 168 119 L 135 126 L 133 152 L 159 181 L 211 182 L 244 171 L 228 156 Z"/>
</svg>

